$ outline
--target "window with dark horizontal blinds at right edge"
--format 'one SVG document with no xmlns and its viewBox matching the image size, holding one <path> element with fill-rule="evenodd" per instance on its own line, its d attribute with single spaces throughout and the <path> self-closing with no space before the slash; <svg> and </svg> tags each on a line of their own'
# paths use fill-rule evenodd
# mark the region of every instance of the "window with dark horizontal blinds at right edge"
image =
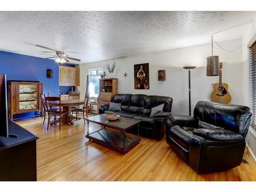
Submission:
<svg viewBox="0 0 256 192">
<path fill-rule="evenodd" d="M 256 42 L 249 47 L 249 105 L 252 111 L 251 126 L 256 130 Z"/>
</svg>

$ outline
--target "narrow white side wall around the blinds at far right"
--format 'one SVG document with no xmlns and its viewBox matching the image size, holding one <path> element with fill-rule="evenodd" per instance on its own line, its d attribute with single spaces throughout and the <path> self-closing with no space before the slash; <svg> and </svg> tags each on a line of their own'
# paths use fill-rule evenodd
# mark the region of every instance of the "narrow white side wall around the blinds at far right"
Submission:
<svg viewBox="0 0 256 192">
<path fill-rule="evenodd" d="M 251 25 L 246 30 L 245 34 L 242 37 L 242 44 L 248 45 L 253 38 L 256 38 L 256 17 L 251 22 Z M 243 60 L 243 104 L 249 105 L 249 89 L 248 89 L 248 72 L 249 72 L 249 60 L 248 60 L 248 48 L 243 46 L 242 51 L 242 60 Z M 247 134 L 247 146 L 254 160 L 256 161 L 256 132 L 251 127 Z"/>
</svg>

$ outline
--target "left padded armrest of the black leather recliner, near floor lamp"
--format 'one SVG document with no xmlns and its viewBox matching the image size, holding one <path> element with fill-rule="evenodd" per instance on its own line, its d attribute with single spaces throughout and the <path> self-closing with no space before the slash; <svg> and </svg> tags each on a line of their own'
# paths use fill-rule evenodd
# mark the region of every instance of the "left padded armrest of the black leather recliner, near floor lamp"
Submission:
<svg viewBox="0 0 256 192">
<path fill-rule="evenodd" d="M 172 125 L 182 125 L 182 126 L 191 126 L 195 127 L 198 124 L 198 120 L 195 117 L 187 115 L 170 115 L 169 120 L 172 122 Z"/>
</svg>

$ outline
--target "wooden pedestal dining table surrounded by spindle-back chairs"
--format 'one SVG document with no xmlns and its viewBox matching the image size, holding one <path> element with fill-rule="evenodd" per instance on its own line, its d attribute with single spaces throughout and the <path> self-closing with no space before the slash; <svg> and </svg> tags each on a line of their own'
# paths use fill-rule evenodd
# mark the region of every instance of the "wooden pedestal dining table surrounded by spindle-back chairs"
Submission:
<svg viewBox="0 0 256 192">
<path fill-rule="evenodd" d="M 79 106 L 83 103 L 84 103 L 84 100 L 78 100 L 78 99 L 60 100 L 60 106 L 62 107 L 62 111 L 69 112 L 66 115 L 66 117 L 63 118 L 63 122 L 73 125 L 74 122 L 72 121 L 72 117 L 71 117 L 71 106 Z"/>
</svg>

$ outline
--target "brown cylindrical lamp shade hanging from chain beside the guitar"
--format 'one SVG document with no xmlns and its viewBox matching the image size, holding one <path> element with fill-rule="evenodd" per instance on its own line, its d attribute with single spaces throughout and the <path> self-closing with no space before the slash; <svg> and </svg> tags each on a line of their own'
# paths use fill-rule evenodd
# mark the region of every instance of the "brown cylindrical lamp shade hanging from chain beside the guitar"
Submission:
<svg viewBox="0 0 256 192">
<path fill-rule="evenodd" d="M 206 59 L 206 76 L 218 76 L 220 74 L 219 56 L 209 56 Z"/>
</svg>

